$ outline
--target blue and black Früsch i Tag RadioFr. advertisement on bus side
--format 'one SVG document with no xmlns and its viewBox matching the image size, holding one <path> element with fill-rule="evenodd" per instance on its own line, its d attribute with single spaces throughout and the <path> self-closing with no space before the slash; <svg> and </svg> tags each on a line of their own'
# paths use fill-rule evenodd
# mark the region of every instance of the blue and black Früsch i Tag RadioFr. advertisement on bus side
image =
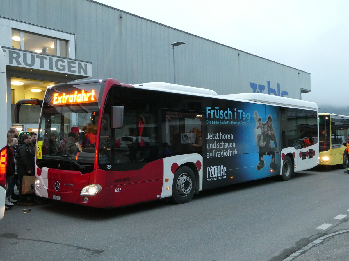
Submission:
<svg viewBox="0 0 349 261">
<path fill-rule="evenodd" d="M 210 103 L 203 134 L 206 188 L 280 173 L 279 107 L 226 100 Z"/>
</svg>

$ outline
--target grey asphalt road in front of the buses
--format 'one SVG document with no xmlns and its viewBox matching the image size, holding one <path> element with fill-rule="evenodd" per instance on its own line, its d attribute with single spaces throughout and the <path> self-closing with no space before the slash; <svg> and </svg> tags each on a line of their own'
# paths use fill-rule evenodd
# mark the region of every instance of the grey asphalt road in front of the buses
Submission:
<svg viewBox="0 0 349 261">
<path fill-rule="evenodd" d="M 343 169 L 320 166 L 286 182 L 202 191 L 183 205 L 15 206 L 0 221 L 0 260 L 284 260 L 345 229 L 348 181 Z"/>
</svg>

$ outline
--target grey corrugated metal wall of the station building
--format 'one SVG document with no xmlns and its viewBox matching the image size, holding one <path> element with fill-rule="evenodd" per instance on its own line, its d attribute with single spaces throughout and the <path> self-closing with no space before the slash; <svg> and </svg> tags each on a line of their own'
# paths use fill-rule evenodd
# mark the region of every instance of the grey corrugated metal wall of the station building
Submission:
<svg viewBox="0 0 349 261">
<path fill-rule="evenodd" d="M 177 84 L 229 94 L 270 81 L 291 98 L 311 89 L 309 73 L 94 1 L 0 0 L 0 16 L 76 34 L 76 59 L 92 62 L 92 78 L 173 82 L 171 43 L 183 41 L 175 47 Z"/>
</svg>

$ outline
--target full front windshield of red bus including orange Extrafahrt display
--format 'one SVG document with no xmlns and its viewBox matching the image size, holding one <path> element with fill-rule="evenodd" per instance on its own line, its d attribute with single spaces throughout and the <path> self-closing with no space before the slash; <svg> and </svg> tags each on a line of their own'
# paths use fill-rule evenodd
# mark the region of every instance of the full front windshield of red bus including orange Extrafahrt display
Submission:
<svg viewBox="0 0 349 261">
<path fill-rule="evenodd" d="M 47 90 L 38 129 L 38 167 L 91 172 L 102 83 Z"/>
</svg>

